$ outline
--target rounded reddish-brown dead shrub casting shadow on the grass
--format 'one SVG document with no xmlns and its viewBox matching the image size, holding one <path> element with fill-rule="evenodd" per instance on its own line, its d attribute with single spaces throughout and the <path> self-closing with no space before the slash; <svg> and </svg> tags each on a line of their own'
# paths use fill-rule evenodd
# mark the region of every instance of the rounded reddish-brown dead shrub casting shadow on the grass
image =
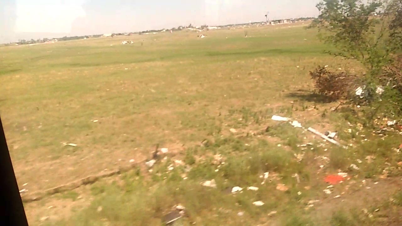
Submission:
<svg viewBox="0 0 402 226">
<path fill-rule="evenodd" d="M 351 91 L 359 83 L 358 76 L 345 71 L 330 71 L 326 67 L 318 66 L 310 71 L 315 88 L 320 95 L 336 101 L 350 97 Z"/>
</svg>

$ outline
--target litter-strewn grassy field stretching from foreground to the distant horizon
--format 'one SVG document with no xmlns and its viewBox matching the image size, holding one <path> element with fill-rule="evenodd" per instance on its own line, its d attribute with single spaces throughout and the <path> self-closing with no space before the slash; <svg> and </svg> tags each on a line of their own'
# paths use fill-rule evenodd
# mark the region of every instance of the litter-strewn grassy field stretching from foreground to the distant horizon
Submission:
<svg viewBox="0 0 402 226">
<path fill-rule="evenodd" d="M 35 193 L 139 163 L 25 203 L 31 225 L 161 225 L 178 203 L 187 217 L 175 225 L 400 225 L 402 158 L 393 148 L 402 139 L 374 136 L 355 113 L 332 112 L 336 103 L 312 92 L 309 70 L 358 65 L 325 54 L 304 24 L 197 35 L 0 48 L 0 114 L 20 189 Z M 274 114 L 337 130 L 349 148 L 273 121 Z M 169 157 L 148 171 L 142 162 L 156 144 Z M 338 171 L 351 178 L 324 193 L 324 176 Z M 217 188 L 200 185 L 211 179 Z M 230 194 L 234 186 L 243 191 Z"/>
</svg>

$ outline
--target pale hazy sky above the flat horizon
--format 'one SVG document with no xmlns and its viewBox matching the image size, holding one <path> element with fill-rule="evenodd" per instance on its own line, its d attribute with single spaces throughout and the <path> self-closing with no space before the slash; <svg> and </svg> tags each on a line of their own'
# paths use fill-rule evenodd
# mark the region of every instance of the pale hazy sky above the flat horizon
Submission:
<svg viewBox="0 0 402 226">
<path fill-rule="evenodd" d="M 317 16 L 319 0 L 0 0 L 0 38 L 90 35 Z M 8 35 L 10 34 L 10 35 Z"/>
</svg>

